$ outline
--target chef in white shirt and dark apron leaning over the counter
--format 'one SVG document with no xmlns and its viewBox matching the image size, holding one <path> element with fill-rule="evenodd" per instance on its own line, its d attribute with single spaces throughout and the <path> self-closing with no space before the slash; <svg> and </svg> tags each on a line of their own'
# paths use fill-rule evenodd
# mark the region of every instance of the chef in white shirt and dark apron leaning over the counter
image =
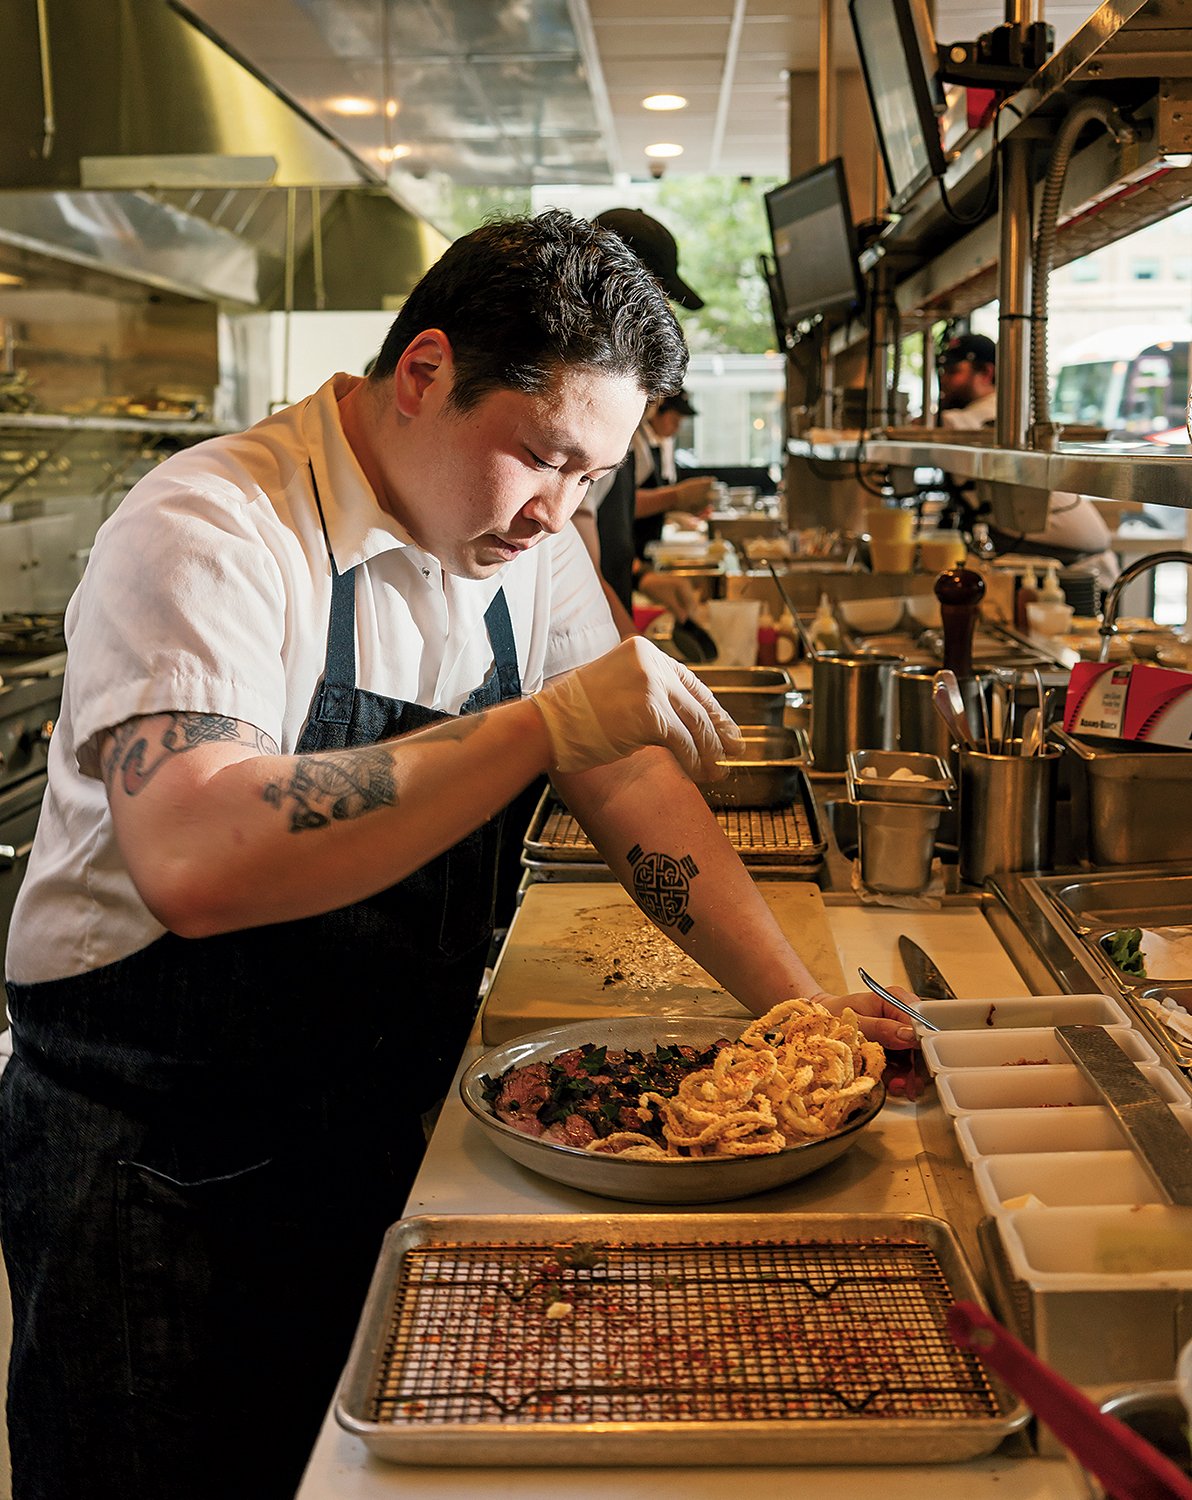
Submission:
<svg viewBox="0 0 1192 1500">
<path fill-rule="evenodd" d="M 292 1496 L 532 777 L 750 1010 L 814 993 L 690 780 L 736 728 L 567 524 L 685 363 L 616 236 L 487 225 L 102 528 L 7 951 L 16 1500 Z"/>
</svg>

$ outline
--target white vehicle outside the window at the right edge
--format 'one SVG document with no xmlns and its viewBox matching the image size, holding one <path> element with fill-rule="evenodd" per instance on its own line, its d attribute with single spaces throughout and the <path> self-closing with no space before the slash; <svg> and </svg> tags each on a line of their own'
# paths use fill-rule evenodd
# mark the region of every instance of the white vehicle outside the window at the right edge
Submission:
<svg viewBox="0 0 1192 1500">
<path fill-rule="evenodd" d="M 1186 444 L 1192 326 L 1128 326 L 1071 345 L 1056 374 L 1051 420 L 1135 441 Z"/>
</svg>

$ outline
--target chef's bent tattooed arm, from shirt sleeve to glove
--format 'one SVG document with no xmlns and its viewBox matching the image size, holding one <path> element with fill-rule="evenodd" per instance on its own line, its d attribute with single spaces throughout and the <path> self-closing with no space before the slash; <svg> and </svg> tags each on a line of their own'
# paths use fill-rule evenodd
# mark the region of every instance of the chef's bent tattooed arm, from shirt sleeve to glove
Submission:
<svg viewBox="0 0 1192 1500">
<path fill-rule="evenodd" d="M 217 714 L 132 718 L 100 746 L 129 873 L 187 938 L 372 896 L 478 828 L 547 760 L 529 700 L 315 754 L 279 754 Z"/>
</svg>

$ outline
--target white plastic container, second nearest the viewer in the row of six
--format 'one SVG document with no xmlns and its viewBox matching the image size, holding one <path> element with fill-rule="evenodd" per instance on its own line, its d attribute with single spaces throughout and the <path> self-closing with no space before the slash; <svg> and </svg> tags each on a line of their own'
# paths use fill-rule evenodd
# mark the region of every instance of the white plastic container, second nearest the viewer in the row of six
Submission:
<svg viewBox="0 0 1192 1500">
<path fill-rule="evenodd" d="M 1026 1208 L 1089 1208 L 1101 1203 L 1162 1203 L 1155 1179 L 1135 1154 L 1122 1150 L 1035 1152 L 985 1156 L 973 1164 L 978 1196 L 990 1214 Z"/>
</svg>

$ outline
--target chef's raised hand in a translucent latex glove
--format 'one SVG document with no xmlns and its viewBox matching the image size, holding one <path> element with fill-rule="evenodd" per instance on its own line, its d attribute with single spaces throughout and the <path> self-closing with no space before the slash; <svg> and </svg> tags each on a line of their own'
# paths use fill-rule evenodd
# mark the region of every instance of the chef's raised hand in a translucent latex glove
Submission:
<svg viewBox="0 0 1192 1500">
<path fill-rule="evenodd" d="M 550 735 L 553 771 L 589 771 L 664 746 L 687 774 L 717 780 L 741 732 L 703 682 L 643 636 L 547 682 L 532 699 Z"/>
</svg>

